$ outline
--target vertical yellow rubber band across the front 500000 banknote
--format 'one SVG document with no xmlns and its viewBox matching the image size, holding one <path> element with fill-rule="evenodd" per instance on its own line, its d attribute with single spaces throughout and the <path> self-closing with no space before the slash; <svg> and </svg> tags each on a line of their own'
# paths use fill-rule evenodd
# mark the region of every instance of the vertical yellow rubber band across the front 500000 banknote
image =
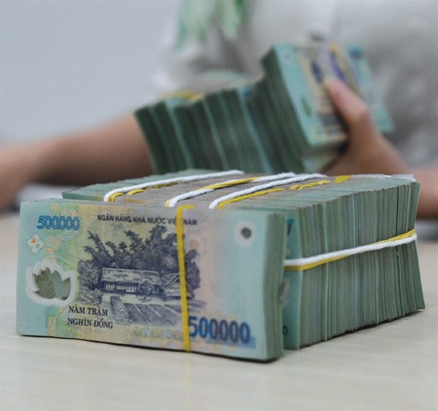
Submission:
<svg viewBox="0 0 438 411">
<path fill-rule="evenodd" d="M 183 328 L 183 348 L 184 351 L 190 352 L 190 333 L 189 333 L 189 308 L 187 303 L 187 286 L 185 284 L 185 252 L 184 252 L 184 227 L 183 211 L 185 209 L 194 209 L 192 205 L 183 205 L 177 208 L 177 217 L 175 225 L 177 228 L 177 251 L 179 266 L 179 290 L 181 293 L 181 323 Z"/>
</svg>

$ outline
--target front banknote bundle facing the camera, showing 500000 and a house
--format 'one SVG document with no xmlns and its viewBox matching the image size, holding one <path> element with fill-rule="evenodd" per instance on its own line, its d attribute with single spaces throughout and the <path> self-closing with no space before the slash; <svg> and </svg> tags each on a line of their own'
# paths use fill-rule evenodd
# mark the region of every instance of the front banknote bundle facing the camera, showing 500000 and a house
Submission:
<svg viewBox="0 0 438 411">
<path fill-rule="evenodd" d="M 281 213 L 23 203 L 16 329 L 272 360 L 284 250 Z"/>
</svg>

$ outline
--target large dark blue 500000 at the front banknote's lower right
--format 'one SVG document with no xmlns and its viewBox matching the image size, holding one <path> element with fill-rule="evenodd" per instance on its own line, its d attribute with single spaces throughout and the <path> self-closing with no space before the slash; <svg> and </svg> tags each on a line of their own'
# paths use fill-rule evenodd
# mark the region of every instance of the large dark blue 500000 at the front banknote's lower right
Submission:
<svg viewBox="0 0 438 411">
<path fill-rule="evenodd" d="M 222 341 L 224 343 L 248 344 L 251 339 L 251 330 L 247 323 L 237 323 L 217 319 L 198 318 L 195 315 L 189 316 L 190 336 L 200 336 L 201 339 Z"/>
</svg>

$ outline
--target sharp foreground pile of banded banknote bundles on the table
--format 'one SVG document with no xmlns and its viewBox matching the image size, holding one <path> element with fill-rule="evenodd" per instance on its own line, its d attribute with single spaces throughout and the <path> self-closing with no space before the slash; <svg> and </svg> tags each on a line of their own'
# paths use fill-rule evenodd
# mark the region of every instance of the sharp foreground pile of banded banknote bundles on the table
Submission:
<svg viewBox="0 0 438 411">
<path fill-rule="evenodd" d="M 415 313 L 418 191 L 186 170 L 23 203 L 17 331 L 272 360 Z"/>
</svg>

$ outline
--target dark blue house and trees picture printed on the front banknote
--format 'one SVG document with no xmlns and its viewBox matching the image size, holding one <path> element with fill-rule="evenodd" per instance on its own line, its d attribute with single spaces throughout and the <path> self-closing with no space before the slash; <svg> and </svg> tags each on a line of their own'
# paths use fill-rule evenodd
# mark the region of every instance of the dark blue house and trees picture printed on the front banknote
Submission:
<svg viewBox="0 0 438 411">
<path fill-rule="evenodd" d="M 181 322 L 176 234 L 157 225 L 148 238 L 131 230 L 125 237 L 118 244 L 103 243 L 98 234 L 89 233 L 90 243 L 83 249 L 90 258 L 77 266 L 79 300 L 99 306 L 109 302 L 116 323 L 175 326 Z M 189 302 L 200 286 L 196 254 L 185 253 Z"/>
</svg>

